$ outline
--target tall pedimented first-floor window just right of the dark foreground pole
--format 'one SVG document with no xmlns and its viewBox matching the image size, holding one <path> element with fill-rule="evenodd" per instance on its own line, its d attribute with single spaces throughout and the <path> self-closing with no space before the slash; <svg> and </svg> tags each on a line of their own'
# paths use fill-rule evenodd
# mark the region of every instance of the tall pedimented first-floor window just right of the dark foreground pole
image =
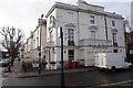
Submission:
<svg viewBox="0 0 133 88">
<path fill-rule="evenodd" d="M 68 41 L 69 45 L 74 45 L 74 30 L 68 29 Z"/>
</svg>

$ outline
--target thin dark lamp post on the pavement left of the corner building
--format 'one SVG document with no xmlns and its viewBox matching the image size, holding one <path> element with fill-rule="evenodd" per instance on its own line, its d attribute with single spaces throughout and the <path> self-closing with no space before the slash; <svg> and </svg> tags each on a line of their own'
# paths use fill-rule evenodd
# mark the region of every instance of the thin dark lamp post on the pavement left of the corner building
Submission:
<svg viewBox="0 0 133 88">
<path fill-rule="evenodd" d="M 39 26 L 40 26 L 39 74 L 41 74 L 41 31 L 42 31 L 42 18 L 43 18 L 43 14 L 41 15 L 41 19 L 39 20 Z"/>
</svg>

